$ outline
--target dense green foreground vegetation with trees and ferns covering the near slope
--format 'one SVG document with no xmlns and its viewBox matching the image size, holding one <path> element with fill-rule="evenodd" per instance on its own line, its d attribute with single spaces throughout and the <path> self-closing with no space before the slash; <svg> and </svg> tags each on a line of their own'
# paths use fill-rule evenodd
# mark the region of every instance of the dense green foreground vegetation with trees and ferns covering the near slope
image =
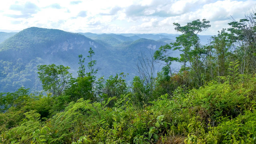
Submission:
<svg viewBox="0 0 256 144">
<path fill-rule="evenodd" d="M 208 45 L 198 34 L 209 21 L 174 23 L 182 34 L 138 55 L 131 83 L 124 73 L 96 79 L 92 48 L 78 56 L 78 77 L 38 65 L 46 95 L 0 93 L 0 143 L 256 143 L 255 16 L 230 22 Z M 163 64 L 157 76 L 155 63 Z"/>
</svg>

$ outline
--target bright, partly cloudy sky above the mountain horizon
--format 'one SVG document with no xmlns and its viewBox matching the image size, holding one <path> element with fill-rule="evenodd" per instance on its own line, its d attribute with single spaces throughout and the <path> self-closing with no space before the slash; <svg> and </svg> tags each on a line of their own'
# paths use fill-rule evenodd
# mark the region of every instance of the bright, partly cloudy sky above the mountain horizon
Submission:
<svg viewBox="0 0 256 144">
<path fill-rule="evenodd" d="M 201 35 L 216 35 L 228 28 L 231 16 L 242 19 L 255 8 L 256 0 L 34 0 L 0 2 L 0 29 L 29 27 L 92 33 L 177 34 L 196 19 L 210 21 Z"/>
</svg>

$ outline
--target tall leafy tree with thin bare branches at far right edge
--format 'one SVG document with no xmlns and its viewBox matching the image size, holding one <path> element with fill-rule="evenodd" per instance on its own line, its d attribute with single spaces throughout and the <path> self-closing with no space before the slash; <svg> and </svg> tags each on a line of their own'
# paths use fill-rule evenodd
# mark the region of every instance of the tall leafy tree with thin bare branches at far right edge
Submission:
<svg viewBox="0 0 256 144">
<path fill-rule="evenodd" d="M 228 23 L 231 28 L 229 39 L 234 43 L 234 52 L 241 62 L 240 73 L 256 72 L 256 12 L 255 9 L 245 15 L 244 19 Z"/>
</svg>

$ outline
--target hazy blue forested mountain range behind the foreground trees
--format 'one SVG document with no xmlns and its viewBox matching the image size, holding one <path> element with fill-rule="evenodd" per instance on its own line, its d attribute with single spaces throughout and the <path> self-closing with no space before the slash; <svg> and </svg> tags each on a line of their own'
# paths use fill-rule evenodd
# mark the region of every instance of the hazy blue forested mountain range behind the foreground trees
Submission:
<svg viewBox="0 0 256 144">
<path fill-rule="evenodd" d="M 94 58 L 101 69 L 97 76 L 108 77 L 124 72 L 130 74 L 127 77 L 130 81 L 136 75 L 134 68 L 139 53 L 149 54 L 147 49 L 152 49 L 153 53 L 172 41 L 133 40 L 116 34 L 81 34 L 31 27 L 0 43 L 0 92 L 16 90 L 21 86 L 30 87 L 31 91 L 41 90 L 36 68 L 39 64 L 67 65 L 71 67 L 70 72 L 76 75 L 78 55 L 87 56 L 90 47 L 95 51 Z M 178 67 L 177 64 L 175 66 Z"/>
</svg>

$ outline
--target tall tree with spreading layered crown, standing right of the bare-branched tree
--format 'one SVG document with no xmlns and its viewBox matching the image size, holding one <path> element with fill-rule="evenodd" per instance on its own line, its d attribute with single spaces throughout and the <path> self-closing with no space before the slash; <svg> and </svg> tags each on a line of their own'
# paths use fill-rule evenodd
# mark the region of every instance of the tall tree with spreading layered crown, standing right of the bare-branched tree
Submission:
<svg viewBox="0 0 256 144">
<path fill-rule="evenodd" d="M 179 62 L 183 63 L 184 68 L 188 66 L 195 72 L 198 86 L 202 84 L 202 65 L 205 60 L 203 55 L 206 54 L 205 47 L 202 47 L 200 44 L 198 33 L 208 29 L 211 26 L 209 23 L 210 21 L 206 21 L 206 19 L 202 19 L 202 21 L 197 19 L 191 23 L 187 23 L 185 26 L 173 23 L 174 26 L 176 26 L 175 30 L 182 32 L 183 34 L 176 37 L 176 42 L 170 43 L 170 45 L 173 45 L 173 50 L 182 52 L 182 54 L 180 54 Z"/>
</svg>

